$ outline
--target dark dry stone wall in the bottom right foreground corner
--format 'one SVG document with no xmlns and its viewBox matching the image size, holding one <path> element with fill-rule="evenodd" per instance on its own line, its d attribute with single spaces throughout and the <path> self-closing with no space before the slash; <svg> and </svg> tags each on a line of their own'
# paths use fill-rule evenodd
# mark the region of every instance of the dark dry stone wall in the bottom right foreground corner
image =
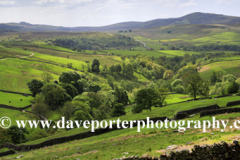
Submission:
<svg viewBox="0 0 240 160">
<path fill-rule="evenodd" d="M 228 144 L 222 141 L 213 145 L 195 145 L 191 150 L 183 149 L 163 153 L 160 157 L 154 156 L 129 156 L 114 158 L 113 160 L 239 160 L 240 146 L 238 141 Z"/>
</svg>

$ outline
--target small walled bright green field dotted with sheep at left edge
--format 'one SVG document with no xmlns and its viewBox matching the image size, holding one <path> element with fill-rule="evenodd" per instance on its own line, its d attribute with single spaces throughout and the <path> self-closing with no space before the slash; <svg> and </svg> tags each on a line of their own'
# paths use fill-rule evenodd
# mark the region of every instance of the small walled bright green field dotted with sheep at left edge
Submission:
<svg viewBox="0 0 240 160">
<path fill-rule="evenodd" d="M 31 104 L 31 100 L 33 98 L 31 96 L 23 96 L 20 94 L 13 94 L 13 93 L 5 93 L 0 92 L 0 104 L 9 105 L 13 107 L 26 107 Z M 22 100 L 22 101 L 21 101 Z M 9 103 L 9 101 L 11 103 Z"/>
</svg>

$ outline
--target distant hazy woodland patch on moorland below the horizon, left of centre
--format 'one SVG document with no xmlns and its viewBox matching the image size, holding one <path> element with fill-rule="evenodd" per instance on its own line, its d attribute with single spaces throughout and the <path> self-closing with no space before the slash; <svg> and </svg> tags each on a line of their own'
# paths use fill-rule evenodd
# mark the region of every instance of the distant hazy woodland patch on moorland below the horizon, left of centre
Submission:
<svg viewBox="0 0 240 160">
<path fill-rule="evenodd" d="M 52 42 L 54 45 L 66 48 L 81 50 L 100 50 L 110 47 L 129 48 L 139 46 L 139 43 L 131 37 L 125 35 L 104 35 L 104 36 L 79 36 L 75 38 L 56 38 Z"/>
</svg>

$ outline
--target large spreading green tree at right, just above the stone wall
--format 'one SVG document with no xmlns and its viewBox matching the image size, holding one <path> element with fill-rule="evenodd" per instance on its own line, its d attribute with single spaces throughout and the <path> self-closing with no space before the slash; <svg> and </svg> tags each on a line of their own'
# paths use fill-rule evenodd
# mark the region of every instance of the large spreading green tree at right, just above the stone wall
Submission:
<svg viewBox="0 0 240 160">
<path fill-rule="evenodd" d="M 186 92 L 194 99 L 197 95 L 207 96 L 209 94 L 209 83 L 203 80 L 199 74 L 189 74 L 184 78 Z"/>
</svg>

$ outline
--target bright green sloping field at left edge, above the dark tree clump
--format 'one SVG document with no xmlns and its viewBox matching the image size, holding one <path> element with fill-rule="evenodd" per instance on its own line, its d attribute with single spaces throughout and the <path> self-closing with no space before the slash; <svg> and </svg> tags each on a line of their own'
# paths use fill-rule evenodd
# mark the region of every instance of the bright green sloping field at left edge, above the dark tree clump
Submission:
<svg viewBox="0 0 240 160">
<path fill-rule="evenodd" d="M 69 70 L 61 66 L 42 62 L 7 59 L 0 61 L 0 89 L 30 93 L 27 82 L 30 82 L 32 79 L 41 79 L 43 72 L 48 72 L 54 79 L 58 79 L 63 71 Z"/>
</svg>

